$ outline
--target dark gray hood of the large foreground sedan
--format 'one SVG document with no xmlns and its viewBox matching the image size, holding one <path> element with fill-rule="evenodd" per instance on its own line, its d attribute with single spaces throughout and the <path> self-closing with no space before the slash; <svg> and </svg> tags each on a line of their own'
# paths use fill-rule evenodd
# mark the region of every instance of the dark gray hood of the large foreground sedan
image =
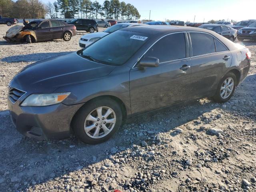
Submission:
<svg viewBox="0 0 256 192">
<path fill-rule="evenodd" d="M 14 76 L 11 87 L 30 93 L 52 93 L 62 86 L 106 76 L 114 68 L 72 52 L 26 66 Z"/>
</svg>

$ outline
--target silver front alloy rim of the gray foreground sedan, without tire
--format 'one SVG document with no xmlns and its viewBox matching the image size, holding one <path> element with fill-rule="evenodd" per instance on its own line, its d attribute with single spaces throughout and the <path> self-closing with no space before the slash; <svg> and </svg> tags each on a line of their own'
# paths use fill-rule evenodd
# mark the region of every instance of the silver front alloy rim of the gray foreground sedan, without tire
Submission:
<svg viewBox="0 0 256 192">
<path fill-rule="evenodd" d="M 116 114 L 110 107 L 102 106 L 92 110 L 85 119 L 84 131 L 94 139 L 108 135 L 116 124 Z"/>
</svg>

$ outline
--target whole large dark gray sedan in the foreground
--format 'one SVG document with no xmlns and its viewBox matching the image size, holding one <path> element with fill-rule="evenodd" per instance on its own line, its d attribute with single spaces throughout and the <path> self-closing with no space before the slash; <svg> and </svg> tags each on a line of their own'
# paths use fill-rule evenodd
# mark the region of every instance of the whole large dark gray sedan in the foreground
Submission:
<svg viewBox="0 0 256 192">
<path fill-rule="evenodd" d="M 228 101 L 250 52 L 216 32 L 126 27 L 87 48 L 31 64 L 12 79 L 8 106 L 22 134 L 108 140 L 128 118 L 190 100 Z"/>
</svg>

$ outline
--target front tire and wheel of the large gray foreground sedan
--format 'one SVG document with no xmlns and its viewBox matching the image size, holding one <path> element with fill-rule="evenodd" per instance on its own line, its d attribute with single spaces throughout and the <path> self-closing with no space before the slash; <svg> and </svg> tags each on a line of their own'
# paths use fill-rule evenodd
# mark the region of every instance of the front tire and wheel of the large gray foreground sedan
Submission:
<svg viewBox="0 0 256 192">
<path fill-rule="evenodd" d="M 110 98 L 91 100 L 74 117 L 73 129 L 84 143 L 98 144 L 112 137 L 122 124 L 122 109 Z"/>
</svg>

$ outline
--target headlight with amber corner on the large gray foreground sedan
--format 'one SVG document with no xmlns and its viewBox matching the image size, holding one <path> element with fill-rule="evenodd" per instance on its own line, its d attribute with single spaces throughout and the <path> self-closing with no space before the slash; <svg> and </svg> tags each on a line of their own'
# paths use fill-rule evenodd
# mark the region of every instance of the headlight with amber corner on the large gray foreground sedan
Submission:
<svg viewBox="0 0 256 192">
<path fill-rule="evenodd" d="M 62 102 L 69 96 L 68 93 L 53 93 L 53 94 L 32 94 L 28 96 L 21 106 L 47 106 Z"/>
</svg>

